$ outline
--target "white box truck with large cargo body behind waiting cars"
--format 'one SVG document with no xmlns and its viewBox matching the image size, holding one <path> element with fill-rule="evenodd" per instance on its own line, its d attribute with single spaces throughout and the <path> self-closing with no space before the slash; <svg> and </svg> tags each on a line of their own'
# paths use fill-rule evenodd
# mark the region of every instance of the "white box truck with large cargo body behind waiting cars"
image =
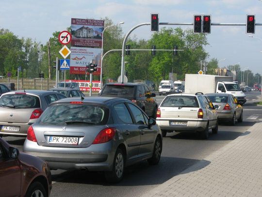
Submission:
<svg viewBox="0 0 262 197">
<path fill-rule="evenodd" d="M 185 75 L 185 93 L 229 93 L 234 95 L 239 104 L 246 103 L 246 94 L 240 90 L 232 76 L 216 75 Z"/>
</svg>

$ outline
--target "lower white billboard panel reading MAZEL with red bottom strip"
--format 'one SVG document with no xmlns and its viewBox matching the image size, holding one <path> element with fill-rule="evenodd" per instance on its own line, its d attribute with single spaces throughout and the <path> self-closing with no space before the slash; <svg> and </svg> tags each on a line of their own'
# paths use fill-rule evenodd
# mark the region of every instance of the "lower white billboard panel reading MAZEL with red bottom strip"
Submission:
<svg viewBox="0 0 262 197">
<path fill-rule="evenodd" d="M 86 66 L 92 61 L 98 65 L 98 71 L 93 75 L 100 75 L 101 49 L 71 46 L 70 74 L 85 75 Z"/>
</svg>

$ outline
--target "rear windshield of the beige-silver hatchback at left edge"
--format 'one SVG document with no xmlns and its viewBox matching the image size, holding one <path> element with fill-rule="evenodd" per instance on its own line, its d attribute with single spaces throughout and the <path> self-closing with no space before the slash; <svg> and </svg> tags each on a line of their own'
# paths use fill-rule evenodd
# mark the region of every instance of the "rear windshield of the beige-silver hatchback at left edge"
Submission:
<svg viewBox="0 0 262 197">
<path fill-rule="evenodd" d="M 23 108 L 40 108 L 40 100 L 37 96 L 26 93 L 15 93 L 2 95 L 0 106 L 23 109 Z"/>
</svg>

